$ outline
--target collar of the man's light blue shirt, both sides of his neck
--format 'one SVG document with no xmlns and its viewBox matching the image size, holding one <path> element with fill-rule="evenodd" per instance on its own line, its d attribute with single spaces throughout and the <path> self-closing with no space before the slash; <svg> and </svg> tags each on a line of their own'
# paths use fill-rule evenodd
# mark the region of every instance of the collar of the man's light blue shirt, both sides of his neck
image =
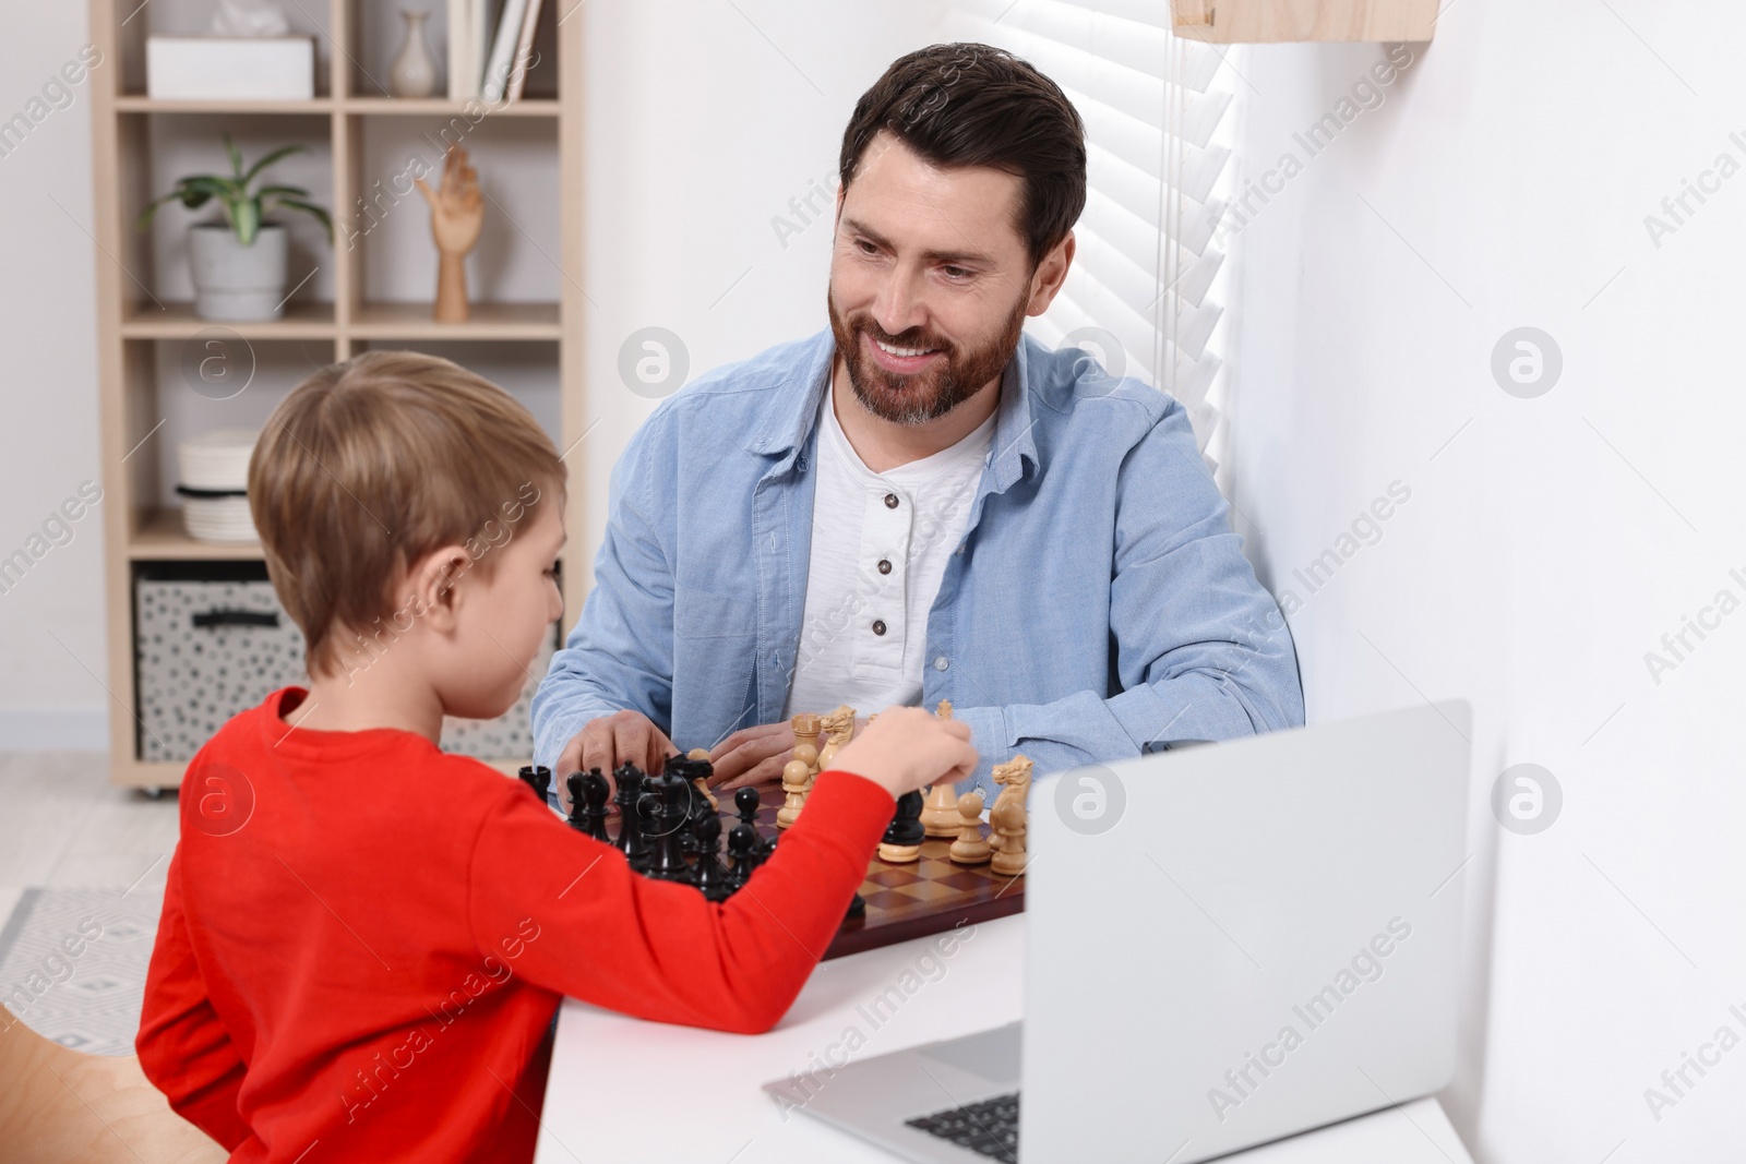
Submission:
<svg viewBox="0 0 1746 1164">
<path fill-rule="evenodd" d="M 992 492 L 1006 492 L 1013 482 L 1025 475 L 1025 461 L 1041 466 L 1037 442 L 1032 429 L 1037 426 L 1035 403 L 1030 393 L 1030 344 L 1028 335 L 1020 335 L 1018 349 L 1000 373 L 1000 401 L 995 405 L 993 447 L 988 450 L 988 469 Z M 831 366 L 836 359 L 836 337 L 829 328 L 814 335 L 801 349 L 803 358 L 796 361 L 780 400 L 793 401 L 787 408 L 773 410 L 770 419 L 753 431 L 746 448 L 763 455 L 793 457 L 812 438 L 812 428 L 819 419 L 819 407 L 831 382 Z"/>
</svg>

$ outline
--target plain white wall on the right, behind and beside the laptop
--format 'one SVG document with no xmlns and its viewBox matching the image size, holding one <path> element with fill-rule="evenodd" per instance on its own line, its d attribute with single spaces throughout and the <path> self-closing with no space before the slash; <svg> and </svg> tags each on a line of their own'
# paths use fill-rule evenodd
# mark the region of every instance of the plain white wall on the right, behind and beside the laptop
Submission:
<svg viewBox="0 0 1746 1164">
<path fill-rule="evenodd" d="M 1474 702 L 1447 1099 L 1489 1164 L 1723 1161 L 1746 1141 L 1746 1044 L 1688 1068 L 1683 1098 L 1660 1082 L 1718 1028 L 1746 1038 L 1746 614 L 1688 637 L 1659 684 L 1645 665 L 1718 590 L 1746 599 L 1746 175 L 1659 248 L 1643 222 L 1718 154 L 1746 164 L 1741 44 L 1730 5 L 1456 0 L 1315 157 L 1292 131 L 1383 49 L 1240 58 L 1247 175 L 1285 150 L 1306 166 L 1240 234 L 1236 501 L 1266 579 L 1303 600 L 1311 721 Z M 1564 363 L 1533 400 L 1489 368 L 1524 325 Z M 1292 571 L 1395 480 L 1411 499 L 1381 539 L 1310 595 Z M 1523 761 L 1564 794 L 1533 836 L 1486 805 Z M 1676 1099 L 1659 1120 L 1648 1087 Z"/>
</svg>

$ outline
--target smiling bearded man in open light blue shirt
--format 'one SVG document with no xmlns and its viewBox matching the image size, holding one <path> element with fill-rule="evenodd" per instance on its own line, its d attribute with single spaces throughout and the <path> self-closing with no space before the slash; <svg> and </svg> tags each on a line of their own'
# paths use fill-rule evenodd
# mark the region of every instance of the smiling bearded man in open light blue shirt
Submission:
<svg viewBox="0 0 1746 1164">
<path fill-rule="evenodd" d="M 665 400 L 613 473 L 595 586 L 533 705 L 559 773 L 787 717 L 952 700 L 1037 770 L 1303 722 L 1285 621 L 1182 407 L 1025 337 L 1074 258 L 1084 129 L 986 45 L 896 61 L 843 134 L 829 332 Z"/>
</svg>

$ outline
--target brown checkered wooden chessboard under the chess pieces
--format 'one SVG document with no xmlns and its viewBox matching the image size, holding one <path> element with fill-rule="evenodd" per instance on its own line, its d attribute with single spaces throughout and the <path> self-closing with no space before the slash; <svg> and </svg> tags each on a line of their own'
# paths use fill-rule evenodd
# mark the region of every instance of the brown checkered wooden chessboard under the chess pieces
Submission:
<svg viewBox="0 0 1746 1164">
<path fill-rule="evenodd" d="M 775 813 L 782 806 L 782 789 L 766 787 L 761 792 L 758 832 L 768 838 L 779 832 Z M 728 820 L 723 818 L 723 824 Z M 985 822 L 983 836 L 986 834 Z M 952 848 L 950 839 L 927 838 L 922 841 L 918 860 L 892 866 L 875 857 L 868 864 L 866 881 L 861 883 L 866 913 L 843 920 L 824 956 L 857 955 L 863 949 L 943 934 L 1025 909 L 1023 874 L 1006 878 L 986 864 L 952 864 L 946 857 L 948 848 Z"/>
</svg>

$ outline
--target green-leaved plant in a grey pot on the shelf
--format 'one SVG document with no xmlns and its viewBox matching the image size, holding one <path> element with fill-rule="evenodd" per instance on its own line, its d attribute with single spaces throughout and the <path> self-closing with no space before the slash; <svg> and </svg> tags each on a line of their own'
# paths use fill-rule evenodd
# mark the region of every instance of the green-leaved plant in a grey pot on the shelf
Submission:
<svg viewBox="0 0 1746 1164">
<path fill-rule="evenodd" d="M 152 222 L 152 215 L 166 202 L 180 201 L 189 209 L 199 209 L 217 201 L 223 222 L 189 227 L 189 257 L 194 264 L 194 314 L 203 319 L 278 319 L 285 314 L 285 258 L 286 232 L 278 222 L 269 222 L 274 209 L 299 209 L 314 218 L 333 241 L 333 220 L 325 209 L 309 202 L 309 190 L 292 185 L 255 185 L 262 171 L 281 157 L 299 154 L 307 147 L 286 145 L 272 150 L 248 169 L 243 154 L 223 138 L 230 159 L 230 176 L 192 175 L 176 181 L 175 188 L 140 211 L 138 227 Z"/>
</svg>

